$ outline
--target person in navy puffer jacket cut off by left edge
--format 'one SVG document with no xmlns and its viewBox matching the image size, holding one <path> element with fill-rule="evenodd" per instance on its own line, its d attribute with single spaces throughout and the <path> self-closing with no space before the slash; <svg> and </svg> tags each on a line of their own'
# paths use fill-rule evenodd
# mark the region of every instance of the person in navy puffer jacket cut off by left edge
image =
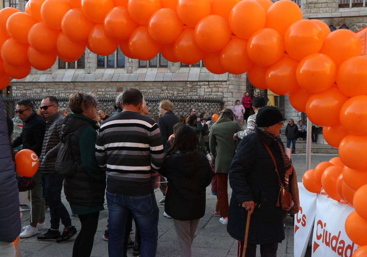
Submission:
<svg viewBox="0 0 367 257">
<path fill-rule="evenodd" d="M 3 100 L 0 98 L 0 252 L 15 256 L 13 241 L 21 232 L 19 191 L 8 135 Z"/>
</svg>

